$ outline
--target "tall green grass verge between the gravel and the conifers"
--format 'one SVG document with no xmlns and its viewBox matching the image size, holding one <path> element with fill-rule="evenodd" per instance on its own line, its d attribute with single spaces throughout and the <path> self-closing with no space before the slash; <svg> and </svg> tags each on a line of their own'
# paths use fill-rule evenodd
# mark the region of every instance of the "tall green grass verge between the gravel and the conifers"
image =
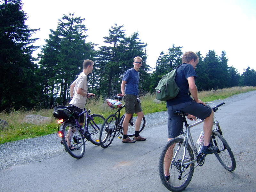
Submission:
<svg viewBox="0 0 256 192">
<path fill-rule="evenodd" d="M 198 93 L 198 98 L 204 102 L 225 99 L 232 95 L 256 90 L 256 87 L 232 87 L 227 89 L 220 89 L 214 92 L 203 91 Z M 153 93 L 147 93 L 143 97 L 140 97 L 141 106 L 144 114 L 155 113 L 166 110 L 165 101 L 156 101 L 156 95 Z M 124 101 L 122 100 L 123 104 Z M 91 114 L 96 113 L 104 116 L 105 118 L 110 114 L 114 114 L 116 110 L 108 107 L 105 100 L 100 97 L 98 100 L 96 98 L 91 98 L 87 100 L 85 106 L 87 109 L 91 110 Z M 57 120 L 52 117 L 53 109 L 42 109 L 42 110 L 11 110 L 10 113 L 2 112 L 0 113 L 0 119 L 8 122 L 9 127 L 6 129 L 0 128 L 0 144 L 8 141 L 21 140 L 31 137 L 38 137 L 54 133 L 58 131 Z M 121 115 L 123 115 L 125 109 L 121 110 Z M 21 123 L 26 115 L 42 115 L 47 117 L 52 117 L 52 122 L 43 125 L 33 125 L 27 123 Z"/>
</svg>

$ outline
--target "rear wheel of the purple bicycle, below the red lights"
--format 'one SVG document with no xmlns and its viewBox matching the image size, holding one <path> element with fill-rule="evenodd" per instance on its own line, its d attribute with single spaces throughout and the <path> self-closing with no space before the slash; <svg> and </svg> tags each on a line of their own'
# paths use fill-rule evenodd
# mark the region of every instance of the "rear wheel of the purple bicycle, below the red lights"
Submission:
<svg viewBox="0 0 256 192">
<path fill-rule="evenodd" d="M 69 131 L 70 130 L 70 131 Z M 79 129 L 76 128 L 76 124 L 72 123 L 72 122 L 68 122 L 66 124 L 64 124 L 64 126 L 61 129 L 63 137 L 62 137 L 62 141 L 63 141 L 63 145 L 66 148 L 66 151 L 68 151 L 69 155 L 71 155 L 74 158 L 80 159 L 84 156 L 84 151 L 85 151 L 85 143 L 84 143 L 84 139 L 83 134 L 80 132 Z M 68 131 L 71 134 L 71 137 L 68 136 Z M 72 146 L 74 146 L 75 148 L 77 148 L 77 150 L 71 150 L 68 147 L 66 138 L 70 140 L 70 144 Z"/>
</svg>

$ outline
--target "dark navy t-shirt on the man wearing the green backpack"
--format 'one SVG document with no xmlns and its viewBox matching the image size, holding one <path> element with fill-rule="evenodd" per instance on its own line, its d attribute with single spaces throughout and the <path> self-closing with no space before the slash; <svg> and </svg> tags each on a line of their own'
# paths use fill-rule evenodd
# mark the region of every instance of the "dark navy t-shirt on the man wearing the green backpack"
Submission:
<svg viewBox="0 0 256 192">
<path fill-rule="evenodd" d="M 175 83 L 180 88 L 180 91 L 175 98 L 167 100 L 166 107 L 193 100 L 189 94 L 189 86 L 188 86 L 188 80 L 187 80 L 188 77 L 191 77 L 191 76 L 194 76 L 196 80 L 197 75 L 192 65 L 188 63 L 183 63 L 177 69 L 176 76 L 175 76 Z"/>
</svg>

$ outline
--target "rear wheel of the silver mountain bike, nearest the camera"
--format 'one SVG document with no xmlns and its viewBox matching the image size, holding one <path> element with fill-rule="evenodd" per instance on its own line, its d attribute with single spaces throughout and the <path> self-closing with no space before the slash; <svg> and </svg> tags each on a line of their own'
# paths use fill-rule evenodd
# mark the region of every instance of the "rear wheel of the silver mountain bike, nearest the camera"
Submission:
<svg viewBox="0 0 256 192">
<path fill-rule="evenodd" d="M 174 139 L 168 141 L 161 152 L 161 155 L 159 158 L 159 164 L 158 164 L 159 165 L 158 170 L 159 170 L 159 175 L 160 175 L 162 184 L 167 189 L 169 189 L 171 191 L 175 191 L 175 192 L 182 191 L 188 186 L 188 184 L 190 183 L 190 181 L 192 179 L 192 176 L 194 173 L 194 167 L 195 167 L 194 163 L 190 164 L 190 165 L 188 165 L 187 168 L 184 168 L 185 172 L 180 173 L 181 166 L 179 166 L 179 165 L 181 163 L 181 160 L 183 157 L 183 152 L 184 152 L 184 147 L 185 147 L 184 145 L 182 145 L 183 140 L 184 140 L 183 138 L 174 138 Z M 171 149 L 171 147 L 173 147 L 173 150 Z M 167 153 L 168 150 L 169 150 L 169 152 Z M 168 160 L 169 160 L 169 162 L 172 162 L 172 156 L 170 156 L 170 150 L 172 150 L 172 152 L 177 151 L 177 154 L 176 154 L 174 164 L 170 163 L 171 166 L 169 167 Z M 194 160 L 193 151 L 189 144 L 188 144 L 188 147 L 186 148 L 185 159 L 188 159 L 189 161 Z M 165 179 L 165 174 L 164 174 L 165 166 L 169 167 L 169 174 L 170 174 L 169 181 L 167 181 Z M 178 178 L 179 176 L 181 176 L 180 179 Z"/>
</svg>

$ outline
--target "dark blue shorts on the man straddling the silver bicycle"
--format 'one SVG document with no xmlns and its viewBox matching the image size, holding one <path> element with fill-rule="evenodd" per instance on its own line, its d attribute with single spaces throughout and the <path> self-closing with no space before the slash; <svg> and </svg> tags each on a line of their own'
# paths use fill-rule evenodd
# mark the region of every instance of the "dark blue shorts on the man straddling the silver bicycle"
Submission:
<svg viewBox="0 0 256 192">
<path fill-rule="evenodd" d="M 195 101 L 188 101 L 177 105 L 171 105 L 167 108 L 168 112 L 168 138 L 175 138 L 183 134 L 183 118 L 180 115 L 175 115 L 174 111 L 182 111 L 190 115 L 196 116 L 199 119 L 204 120 L 212 113 L 212 109 L 209 106 L 205 106 Z"/>
</svg>

